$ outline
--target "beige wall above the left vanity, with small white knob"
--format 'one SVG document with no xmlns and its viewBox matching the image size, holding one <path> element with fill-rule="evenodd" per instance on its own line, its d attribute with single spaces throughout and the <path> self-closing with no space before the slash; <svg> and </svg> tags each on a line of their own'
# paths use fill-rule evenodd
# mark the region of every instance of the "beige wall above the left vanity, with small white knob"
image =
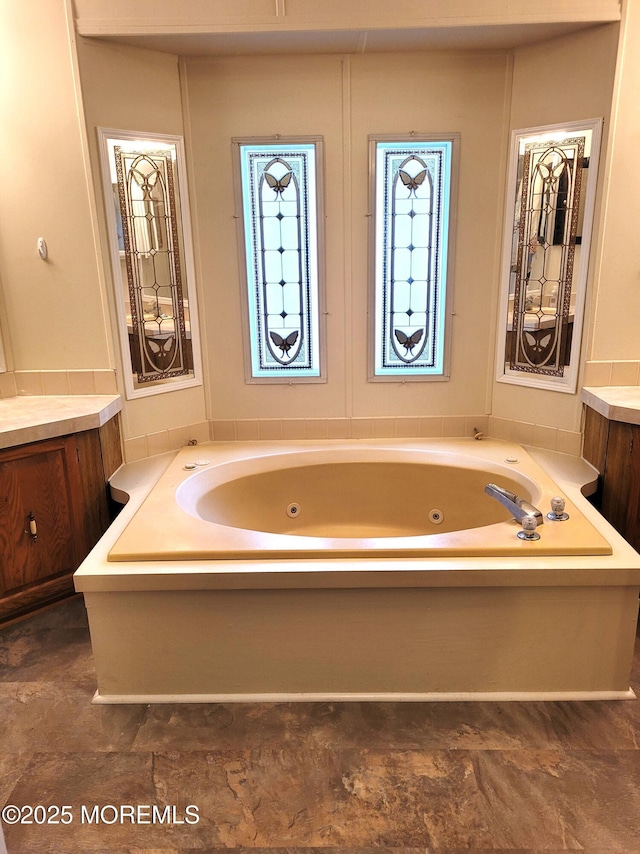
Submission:
<svg viewBox="0 0 640 854">
<path fill-rule="evenodd" d="M 0 280 L 12 365 L 112 367 L 64 0 L 0 4 L 0 86 Z"/>
</svg>

